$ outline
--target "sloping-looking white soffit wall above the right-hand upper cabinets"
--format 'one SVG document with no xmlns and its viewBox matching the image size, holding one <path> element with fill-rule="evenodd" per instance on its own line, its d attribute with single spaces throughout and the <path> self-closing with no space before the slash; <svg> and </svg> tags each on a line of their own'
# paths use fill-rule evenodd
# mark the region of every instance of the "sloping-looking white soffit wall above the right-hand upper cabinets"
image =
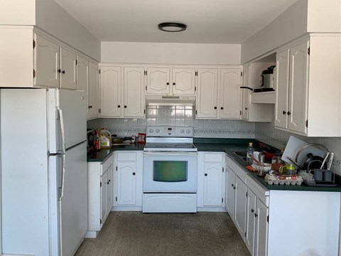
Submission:
<svg viewBox="0 0 341 256">
<path fill-rule="evenodd" d="M 308 0 L 298 0 L 269 25 L 242 43 L 242 64 L 306 33 L 307 9 Z"/>
</svg>

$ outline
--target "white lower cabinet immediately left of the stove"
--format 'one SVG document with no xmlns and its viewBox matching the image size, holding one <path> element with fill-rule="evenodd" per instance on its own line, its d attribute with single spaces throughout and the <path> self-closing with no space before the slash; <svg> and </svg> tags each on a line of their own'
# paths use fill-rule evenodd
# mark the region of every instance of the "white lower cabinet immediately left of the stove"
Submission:
<svg viewBox="0 0 341 256">
<path fill-rule="evenodd" d="M 113 210 L 141 210 L 142 154 L 142 151 L 115 151 Z"/>
</svg>

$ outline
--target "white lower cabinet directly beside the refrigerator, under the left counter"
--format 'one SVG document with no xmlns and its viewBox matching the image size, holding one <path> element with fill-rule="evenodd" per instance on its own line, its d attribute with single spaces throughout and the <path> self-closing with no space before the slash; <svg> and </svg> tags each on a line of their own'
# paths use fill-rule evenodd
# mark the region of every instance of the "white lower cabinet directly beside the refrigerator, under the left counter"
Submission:
<svg viewBox="0 0 341 256">
<path fill-rule="evenodd" d="M 87 163 L 88 228 L 85 238 L 96 238 L 112 210 L 114 155 L 103 162 Z"/>
</svg>

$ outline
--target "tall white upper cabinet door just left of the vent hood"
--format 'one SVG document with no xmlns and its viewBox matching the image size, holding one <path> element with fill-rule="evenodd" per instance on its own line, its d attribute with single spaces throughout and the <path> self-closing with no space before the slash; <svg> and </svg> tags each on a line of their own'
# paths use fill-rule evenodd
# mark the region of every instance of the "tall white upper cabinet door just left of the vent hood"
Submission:
<svg viewBox="0 0 341 256">
<path fill-rule="evenodd" d="M 144 117 L 144 68 L 124 68 L 124 117 Z"/>
</svg>

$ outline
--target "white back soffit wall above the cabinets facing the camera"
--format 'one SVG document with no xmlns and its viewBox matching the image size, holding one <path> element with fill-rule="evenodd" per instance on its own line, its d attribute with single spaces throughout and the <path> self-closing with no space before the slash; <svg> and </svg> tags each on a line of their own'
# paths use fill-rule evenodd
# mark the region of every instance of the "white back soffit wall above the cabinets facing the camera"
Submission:
<svg viewBox="0 0 341 256">
<path fill-rule="evenodd" d="M 102 63 L 240 65 L 241 46 L 202 43 L 102 42 Z"/>
</svg>

